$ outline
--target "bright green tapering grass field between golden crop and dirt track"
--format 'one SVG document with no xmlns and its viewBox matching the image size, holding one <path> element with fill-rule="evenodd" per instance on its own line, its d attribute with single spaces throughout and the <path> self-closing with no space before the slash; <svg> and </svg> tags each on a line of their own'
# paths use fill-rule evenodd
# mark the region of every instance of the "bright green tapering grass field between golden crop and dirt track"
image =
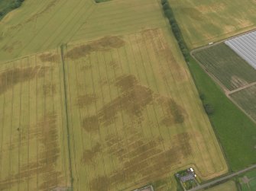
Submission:
<svg viewBox="0 0 256 191">
<path fill-rule="evenodd" d="M 203 104 L 214 107 L 209 115 L 232 171 L 256 163 L 256 125 L 232 103 L 217 84 L 207 75 L 194 59 L 190 59 L 193 75 Z"/>
</svg>

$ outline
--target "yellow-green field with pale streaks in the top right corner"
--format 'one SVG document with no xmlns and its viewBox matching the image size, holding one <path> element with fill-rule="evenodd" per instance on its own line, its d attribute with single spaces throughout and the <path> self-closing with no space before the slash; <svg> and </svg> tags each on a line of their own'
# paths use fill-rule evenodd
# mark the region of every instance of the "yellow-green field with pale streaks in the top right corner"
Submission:
<svg viewBox="0 0 256 191">
<path fill-rule="evenodd" d="M 190 49 L 256 27 L 256 2 L 245 0 L 169 0 Z"/>
</svg>

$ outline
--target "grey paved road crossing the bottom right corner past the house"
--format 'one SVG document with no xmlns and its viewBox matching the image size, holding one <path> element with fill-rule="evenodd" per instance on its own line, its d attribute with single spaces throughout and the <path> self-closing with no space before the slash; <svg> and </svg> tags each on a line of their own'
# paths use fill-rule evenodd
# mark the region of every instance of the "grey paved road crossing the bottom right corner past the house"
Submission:
<svg viewBox="0 0 256 191">
<path fill-rule="evenodd" d="M 196 187 L 193 188 L 193 189 L 188 189 L 187 191 L 196 191 L 196 190 L 199 190 L 199 189 L 207 188 L 207 187 L 212 186 L 212 185 L 214 185 L 214 184 L 216 184 L 216 183 L 220 183 L 220 182 L 222 182 L 223 180 L 228 180 L 228 179 L 230 179 L 230 178 L 232 178 L 232 177 L 235 177 L 235 176 L 237 176 L 237 175 L 239 175 L 239 174 L 241 174 L 241 173 L 245 173 L 245 172 L 247 172 L 248 170 L 252 170 L 252 169 L 254 169 L 254 168 L 256 168 L 256 164 L 252 165 L 251 167 L 247 167 L 247 168 L 245 168 L 245 169 L 243 169 L 243 170 L 239 170 L 238 172 L 228 174 L 228 175 L 225 176 L 225 177 L 221 177 L 221 178 L 219 178 L 219 179 L 212 180 L 212 182 L 209 182 L 209 183 L 205 183 L 205 184 L 196 186 Z"/>
</svg>

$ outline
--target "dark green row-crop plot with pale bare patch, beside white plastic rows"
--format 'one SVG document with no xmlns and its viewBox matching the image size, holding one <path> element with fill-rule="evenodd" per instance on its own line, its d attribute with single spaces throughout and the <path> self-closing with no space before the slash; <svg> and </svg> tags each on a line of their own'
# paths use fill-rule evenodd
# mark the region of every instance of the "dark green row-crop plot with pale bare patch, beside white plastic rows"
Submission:
<svg viewBox="0 0 256 191">
<path fill-rule="evenodd" d="M 254 68 L 225 43 L 200 49 L 193 53 L 193 56 L 202 63 L 207 72 L 217 78 L 228 90 L 234 90 L 256 81 Z"/>
</svg>

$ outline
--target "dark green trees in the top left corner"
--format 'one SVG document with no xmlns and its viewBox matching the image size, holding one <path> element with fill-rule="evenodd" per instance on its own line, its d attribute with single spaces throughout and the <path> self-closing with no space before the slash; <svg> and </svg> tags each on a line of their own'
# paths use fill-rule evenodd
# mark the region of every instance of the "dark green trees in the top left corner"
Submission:
<svg viewBox="0 0 256 191">
<path fill-rule="evenodd" d="M 15 8 L 19 8 L 24 0 L 0 0 L 0 20 L 5 17 L 5 14 Z"/>
</svg>

